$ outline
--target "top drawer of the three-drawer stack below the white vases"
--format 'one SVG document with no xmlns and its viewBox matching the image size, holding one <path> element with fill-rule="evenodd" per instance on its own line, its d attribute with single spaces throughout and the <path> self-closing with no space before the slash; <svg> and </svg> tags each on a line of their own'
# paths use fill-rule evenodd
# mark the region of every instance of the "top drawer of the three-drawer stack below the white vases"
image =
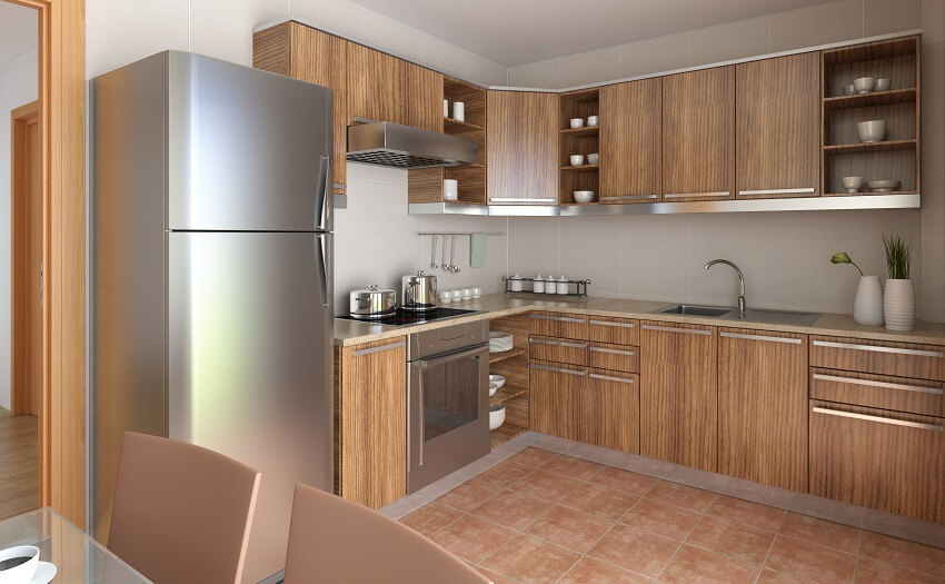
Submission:
<svg viewBox="0 0 945 584">
<path fill-rule="evenodd" d="M 839 337 L 810 337 L 810 366 L 945 380 L 943 347 Z"/>
</svg>

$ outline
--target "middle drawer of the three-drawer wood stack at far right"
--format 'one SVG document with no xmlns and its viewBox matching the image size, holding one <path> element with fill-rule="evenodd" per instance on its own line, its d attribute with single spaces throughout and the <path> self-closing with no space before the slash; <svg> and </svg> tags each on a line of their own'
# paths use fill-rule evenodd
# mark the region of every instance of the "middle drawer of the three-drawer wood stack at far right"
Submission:
<svg viewBox="0 0 945 584">
<path fill-rule="evenodd" d="M 942 382 L 927 382 L 869 373 L 810 370 L 810 397 L 840 404 L 945 415 Z"/>
</svg>

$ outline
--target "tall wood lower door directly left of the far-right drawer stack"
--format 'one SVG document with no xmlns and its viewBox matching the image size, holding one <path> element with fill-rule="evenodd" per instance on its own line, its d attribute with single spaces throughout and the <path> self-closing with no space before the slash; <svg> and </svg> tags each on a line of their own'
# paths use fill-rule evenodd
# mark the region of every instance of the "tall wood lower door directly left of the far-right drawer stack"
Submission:
<svg viewBox="0 0 945 584">
<path fill-rule="evenodd" d="M 718 472 L 807 491 L 807 337 L 723 328 Z"/>
</svg>

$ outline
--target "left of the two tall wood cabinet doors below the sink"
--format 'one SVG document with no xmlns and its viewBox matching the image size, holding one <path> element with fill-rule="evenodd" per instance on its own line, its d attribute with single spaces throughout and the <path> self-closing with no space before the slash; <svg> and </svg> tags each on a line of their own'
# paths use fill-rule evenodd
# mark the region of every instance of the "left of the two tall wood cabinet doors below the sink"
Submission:
<svg viewBox="0 0 945 584">
<path fill-rule="evenodd" d="M 714 327 L 640 324 L 640 455 L 716 472 L 717 349 Z"/>
</svg>

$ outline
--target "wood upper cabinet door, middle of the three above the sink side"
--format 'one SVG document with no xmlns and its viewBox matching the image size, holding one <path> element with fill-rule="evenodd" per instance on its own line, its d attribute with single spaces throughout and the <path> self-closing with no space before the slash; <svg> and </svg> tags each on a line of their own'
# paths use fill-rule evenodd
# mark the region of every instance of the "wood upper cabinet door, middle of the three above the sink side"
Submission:
<svg viewBox="0 0 945 584">
<path fill-rule="evenodd" d="M 735 197 L 734 67 L 663 78 L 663 191 L 667 202 Z"/>
</svg>

